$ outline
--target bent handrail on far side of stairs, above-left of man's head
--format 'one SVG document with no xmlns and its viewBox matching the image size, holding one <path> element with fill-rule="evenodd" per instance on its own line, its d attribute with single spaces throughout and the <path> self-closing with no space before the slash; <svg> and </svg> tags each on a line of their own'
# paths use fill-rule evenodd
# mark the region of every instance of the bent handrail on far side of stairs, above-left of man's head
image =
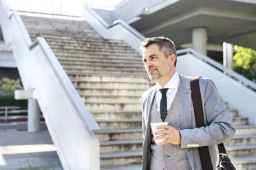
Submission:
<svg viewBox="0 0 256 170">
<path fill-rule="evenodd" d="M 127 29 L 129 32 L 131 32 L 131 34 L 134 34 L 134 36 L 136 36 L 137 38 L 139 38 L 140 40 L 145 40 L 145 36 L 143 36 L 142 34 L 140 34 L 140 32 L 138 32 L 136 29 L 134 29 L 133 27 L 131 27 L 129 24 L 127 24 L 125 21 L 122 21 L 121 19 L 118 19 L 116 21 L 114 21 L 111 25 L 109 25 L 99 14 L 97 14 L 94 10 L 92 10 L 92 8 L 89 8 L 87 5 L 85 5 L 86 10 L 92 14 L 92 16 L 94 16 L 94 18 L 96 20 L 98 20 L 99 23 L 101 23 L 101 25 L 103 25 L 106 29 L 109 29 L 111 27 L 114 27 L 115 25 L 122 25 L 122 27 L 125 27 L 125 29 Z"/>
</svg>

